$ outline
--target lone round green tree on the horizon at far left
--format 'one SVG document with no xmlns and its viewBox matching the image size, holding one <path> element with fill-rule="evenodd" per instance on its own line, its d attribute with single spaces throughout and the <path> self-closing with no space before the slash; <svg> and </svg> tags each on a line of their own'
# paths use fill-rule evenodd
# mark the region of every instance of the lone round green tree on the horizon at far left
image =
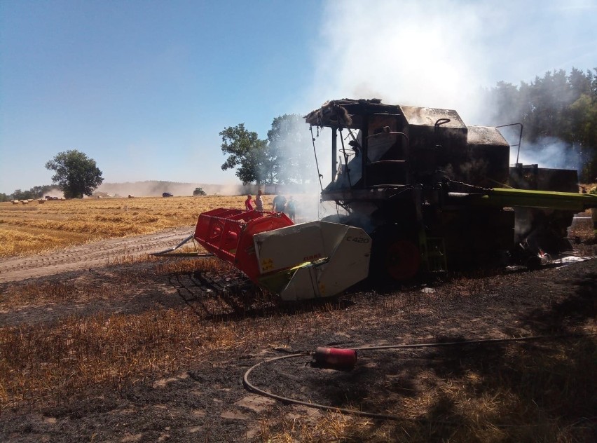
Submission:
<svg viewBox="0 0 597 443">
<path fill-rule="evenodd" d="M 90 196 L 104 182 L 95 160 L 76 149 L 58 153 L 46 163 L 46 169 L 55 172 L 52 181 L 66 198 Z"/>
</svg>

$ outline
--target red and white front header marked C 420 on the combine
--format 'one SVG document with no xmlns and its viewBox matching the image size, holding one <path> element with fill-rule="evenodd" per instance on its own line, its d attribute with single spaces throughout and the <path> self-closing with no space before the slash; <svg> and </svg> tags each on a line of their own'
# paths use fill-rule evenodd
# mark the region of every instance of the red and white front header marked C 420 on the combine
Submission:
<svg viewBox="0 0 597 443">
<path fill-rule="evenodd" d="M 369 273 L 371 238 L 354 226 L 218 208 L 200 214 L 194 238 L 284 301 L 331 297 Z"/>
</svg>

